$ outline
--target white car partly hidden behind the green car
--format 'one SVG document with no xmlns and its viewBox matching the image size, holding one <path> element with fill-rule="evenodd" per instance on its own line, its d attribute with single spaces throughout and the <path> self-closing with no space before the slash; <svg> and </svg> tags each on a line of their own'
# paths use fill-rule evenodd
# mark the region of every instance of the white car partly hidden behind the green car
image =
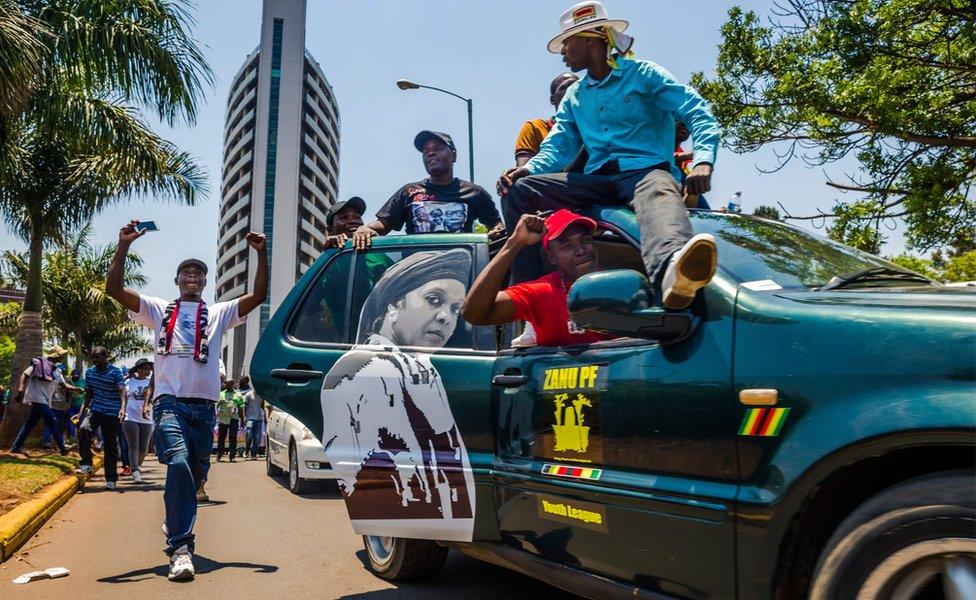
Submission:
<svg viewBox="0 0 976 600">
<path fill-rule="evenodd" d="M 268 475 L 288 473 L 288 489 L 293 494 L 309 491 L 310 483 L 319 479 L 335 479 L 332 465 L 325 456 L 322 443 L 301 421 L 281 410 L 268 406 Z"/>
</svg>

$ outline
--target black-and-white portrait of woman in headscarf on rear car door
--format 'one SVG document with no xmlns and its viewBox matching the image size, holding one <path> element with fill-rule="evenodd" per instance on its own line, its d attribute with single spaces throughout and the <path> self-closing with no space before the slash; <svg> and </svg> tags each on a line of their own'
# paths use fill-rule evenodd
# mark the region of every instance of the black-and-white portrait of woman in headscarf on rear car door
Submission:
<svg viewBox="0 0 976 600">
<path fill-rule="evenodd" d="M 458 326 L 471 256 L 419 252 L 363 305 L 322 386 L 322 445 L 360 535 L 471 541 L 474 475 L 431 353 Z"/>
</svg>

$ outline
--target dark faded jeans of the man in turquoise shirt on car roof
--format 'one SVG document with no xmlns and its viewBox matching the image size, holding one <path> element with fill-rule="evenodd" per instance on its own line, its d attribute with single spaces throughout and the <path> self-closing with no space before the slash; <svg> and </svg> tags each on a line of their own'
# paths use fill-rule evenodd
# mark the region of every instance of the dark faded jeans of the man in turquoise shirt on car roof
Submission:
<svg viewBox="0 0 976 600">
<path fill-rule="evenodd" d="M 509 235 L 519 218 L 540 210 L 579 210 L 593 204 L 630 206 L 637 214 L 641 258 L 651 283 L 659 286 L 671 255 L 691 239 L 691 221 L 674 176 L 651 167 L 610 174 L 550 173 L 515 182 L 502 198 Z M 542 245 L 522 249 L 512 263 L 512 283 L 543 273 Z"/>
</svg>

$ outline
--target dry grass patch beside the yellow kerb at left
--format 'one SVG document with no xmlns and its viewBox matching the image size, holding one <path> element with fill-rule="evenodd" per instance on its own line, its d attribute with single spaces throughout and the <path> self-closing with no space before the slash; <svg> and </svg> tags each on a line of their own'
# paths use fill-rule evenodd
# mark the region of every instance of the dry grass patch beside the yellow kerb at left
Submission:
<svg viewBox="0 0 976 600">
<path fill-rule="evenodd" d="M 29 499 L 45 486 L 71 473 L 80 460 L 76 453 L 61 456 L 53 450 L 28 448 L 31 456 L 0 456 L 0 514 Z"/>
</svg>

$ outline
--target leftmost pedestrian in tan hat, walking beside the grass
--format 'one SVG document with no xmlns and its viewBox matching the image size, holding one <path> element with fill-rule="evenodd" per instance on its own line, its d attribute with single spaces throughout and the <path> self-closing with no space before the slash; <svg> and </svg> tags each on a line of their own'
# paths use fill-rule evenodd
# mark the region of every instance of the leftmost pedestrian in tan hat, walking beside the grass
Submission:
<svg viewBox="0 0 976 600">
<path fill-rule="evenodd" d="M 14 401 L 30 404 L 31 411 L 17 433 L 17 437 L 14 438 L 14 444 L 10 448 L 11 452 L 27 456 L 27 452 L 23 448 L 27 434 L 30 433 L 31 429 L 34 429 L 38 421 L 43 420 L 44 427 L 49 429 L 54 436 L 54 441 L 57 442 L 61 455 L 64 456 L 68 453 L 68 447 L 65 446 L 64 438 L 61 437 L 61 432 L 58 430 L 57 418 L 51 410 L 51 399 L 54 396 L 55 389 L 59 386 L 69 390 L 78 390 L 64 380 L 64 375 L 57 368 L 57 363 L 64 360 L 67 354 L 60 346 L 55 346 L 48 352 L 47 357 L 38 356 L 31 359 L 30 366 L 20 374 Z"/>
</svg>

